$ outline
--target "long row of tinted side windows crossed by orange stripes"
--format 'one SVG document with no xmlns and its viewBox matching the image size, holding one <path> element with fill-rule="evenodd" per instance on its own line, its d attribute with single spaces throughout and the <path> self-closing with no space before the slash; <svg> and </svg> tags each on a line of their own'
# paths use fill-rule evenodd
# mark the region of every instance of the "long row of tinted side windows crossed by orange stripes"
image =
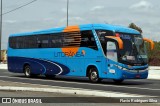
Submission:
<svg viewBox="0 0 160 106">
<path fill-rule="evenodd" d="M 11 48 L 17 49 L 62 47 L 88 47 L 97 49 L 92 31 L 10 37 L 9 45 Z"/>
</svg>

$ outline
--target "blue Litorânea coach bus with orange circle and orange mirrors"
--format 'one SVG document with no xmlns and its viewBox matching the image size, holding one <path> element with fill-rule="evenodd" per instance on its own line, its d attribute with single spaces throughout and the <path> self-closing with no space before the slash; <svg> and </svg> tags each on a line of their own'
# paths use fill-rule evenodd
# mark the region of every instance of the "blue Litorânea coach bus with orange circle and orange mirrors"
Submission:
<svg viewBox="0 0 160 106">
<path fill-rule="evenodd" d="M 146 79 L 148 57 L 138 31 L 118 25 L 84 24 L 11 34 L 8 70 L 35 75 L 88 77 L 91 82 Z"/>
</svg>

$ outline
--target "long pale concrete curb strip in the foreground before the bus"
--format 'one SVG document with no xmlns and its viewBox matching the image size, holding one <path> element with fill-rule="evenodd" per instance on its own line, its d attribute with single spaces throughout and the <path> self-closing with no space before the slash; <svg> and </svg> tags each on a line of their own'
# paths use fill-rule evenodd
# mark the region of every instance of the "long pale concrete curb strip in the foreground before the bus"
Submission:
<svg viewBox="0 0 160 106">
<path fill-rule="evenodd" d="M 15 86 L 0 86 L 0 90 L 9 91 L 32 91 L 32 92 L 52 92 L 62 94 L 75 94 L 97 97 L 146 97 L 147 95 L 128 94 L 120 92 L 89 90 L 89 89 L 74 89 L 74 88 L 31 88 L 31 87 L 15 87 Z"/>
</svg>

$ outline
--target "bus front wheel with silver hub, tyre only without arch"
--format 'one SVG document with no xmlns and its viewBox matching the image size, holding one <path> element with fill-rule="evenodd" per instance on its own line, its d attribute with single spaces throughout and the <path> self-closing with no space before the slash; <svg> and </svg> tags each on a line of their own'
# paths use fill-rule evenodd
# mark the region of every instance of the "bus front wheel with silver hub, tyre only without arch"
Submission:
<svg viewBox="0 0 160 106">
<path fill-rule="evenodd" d="M 97 68 L 93 67 L 93 68 L 90 69 L 90 71 L 89 71 L 89 80 L 91 82 L 94 82 L 94 83 L 101 81 L 101 79 L 98 76 Z"/>
</svg>

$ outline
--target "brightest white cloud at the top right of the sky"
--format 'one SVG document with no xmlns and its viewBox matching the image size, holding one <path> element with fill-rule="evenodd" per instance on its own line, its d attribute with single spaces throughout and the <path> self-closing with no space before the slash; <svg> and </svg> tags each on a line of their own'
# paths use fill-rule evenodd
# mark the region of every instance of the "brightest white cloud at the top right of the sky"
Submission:
<svg viewBox="0 0 160 106">
<path fill-rule="evenodd" d="M 140 1 L 139 3 L 133 4 L 130 9 L 150 9 L 153 5 L 145 0 Z"/>
</svg>

